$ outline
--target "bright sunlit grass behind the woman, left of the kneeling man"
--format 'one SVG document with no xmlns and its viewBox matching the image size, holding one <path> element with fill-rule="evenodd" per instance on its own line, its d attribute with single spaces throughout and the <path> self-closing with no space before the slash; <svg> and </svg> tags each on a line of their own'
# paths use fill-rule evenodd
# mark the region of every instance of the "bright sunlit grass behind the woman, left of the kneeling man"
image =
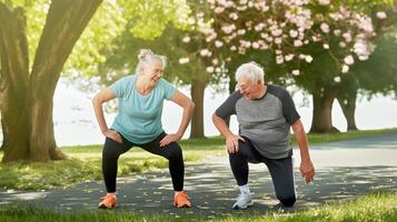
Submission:
<svg viewBox="0 0 397 222">
<path fill-rule="evenodd" d="M 69 160 L 51 163 L 0 164 L 0 188 L 8 190 L 47 190 L 70 188 L 77 183 L 101 180 L 101 145 L 64 148 Z M 219 155 L 224 150 L 186 150 L 186 162 L 201 160 L 206 154 Z M 2 154 L 0 154 L 1 158 Z M 119 159 L 119 175 L 131 175 L 147 170 L 167 168 L 168 161 L 139 148 L 122 154 Z"/>
</svg>

